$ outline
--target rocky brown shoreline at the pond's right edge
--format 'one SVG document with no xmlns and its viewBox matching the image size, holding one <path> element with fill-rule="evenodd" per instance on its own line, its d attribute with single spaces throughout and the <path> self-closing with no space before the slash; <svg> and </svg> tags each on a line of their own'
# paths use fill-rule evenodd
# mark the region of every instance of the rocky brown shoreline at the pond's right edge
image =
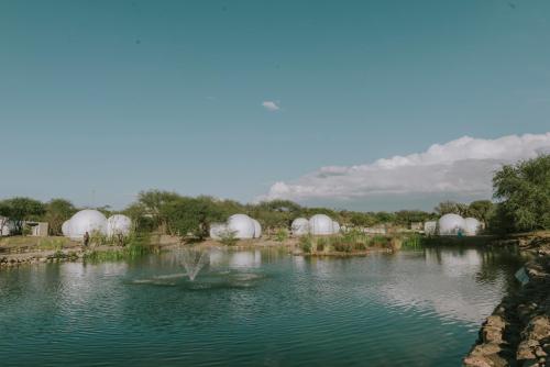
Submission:
<svg viewBox="0 0 550 367">
<path fill-rule="evenodd" d="M 550 366 L 550 236 L 509 240 L 532 260 L 518 271 L 521 289 L 503 299 L 463 360 L 466 367 Z"/>
</svg>

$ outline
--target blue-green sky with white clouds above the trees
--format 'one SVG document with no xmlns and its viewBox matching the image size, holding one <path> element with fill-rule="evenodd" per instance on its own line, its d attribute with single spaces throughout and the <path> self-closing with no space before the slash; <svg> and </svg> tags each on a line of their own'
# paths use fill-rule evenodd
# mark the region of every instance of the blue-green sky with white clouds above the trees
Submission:
<svg viewBox="0 0 550 367">
<path fill-rule="evenodd" d="M 546 0 L 0 0 L 0 199 L 487 199 L 550 152 L 548 45 Z"/>
</svg>

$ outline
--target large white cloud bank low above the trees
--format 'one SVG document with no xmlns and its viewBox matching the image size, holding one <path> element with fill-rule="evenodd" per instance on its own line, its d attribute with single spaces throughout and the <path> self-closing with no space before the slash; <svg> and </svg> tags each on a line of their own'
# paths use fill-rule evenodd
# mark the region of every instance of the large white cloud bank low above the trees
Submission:
<svg viewBox="0 0 550 367">
<path fill-rule="evenodd" d="M 461 138 L 426 152 L 358 166 L 328 166 L 290 182 L 276 182 L 258 200 L 356 200 L 395 194 L 492 194 L 492 177 L 503 164 L 550 153 L 550 133 L 495 140 Z"/>
</svg>

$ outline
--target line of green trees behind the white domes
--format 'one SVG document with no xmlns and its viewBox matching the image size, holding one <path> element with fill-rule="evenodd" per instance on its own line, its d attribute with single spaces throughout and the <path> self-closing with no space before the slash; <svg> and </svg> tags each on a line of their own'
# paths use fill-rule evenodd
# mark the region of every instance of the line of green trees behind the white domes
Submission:
<svg viewBox="0 0 550 367">
<path fill-rule="evenodd" d="M 503 166 L 493 178 L 494 201 L 471 203 L 444 201 L 433 211 L 400 210 L 396 212 L 360 212 L 329 208 L 308 208 L 289 200 L 260 203 L 240 203 L 208 196 L 186 197 L 173 191 L 147 190 L 139 193 L 135 202 L 122 211 L 110 207 L 96 208 L 107 216 L 123 213 L 143 231 L 158 231 L 173 235 L 208 236 L 210 224 L 224 222 L 230 215 L 245 213 L 256 219 L 266 233 L 288 229 L 294 219 L 327 214 L 345 226 L 394 225 L 408 227 L 414 222 L 437 220 L 447 213 L 473 216 L 491 232 L 550 230 L 550 156 Z M 62 224 L 76 208 L 66 199 L 42 202 L 31 198 L 11 198 L 0 201 L 0 229 L 9 218 L 21 233 L 24 221 L 50 223 L 53 235 L 59 235 Z M 3 221 L 3 222 L 2 222 Z"/>
</svg>

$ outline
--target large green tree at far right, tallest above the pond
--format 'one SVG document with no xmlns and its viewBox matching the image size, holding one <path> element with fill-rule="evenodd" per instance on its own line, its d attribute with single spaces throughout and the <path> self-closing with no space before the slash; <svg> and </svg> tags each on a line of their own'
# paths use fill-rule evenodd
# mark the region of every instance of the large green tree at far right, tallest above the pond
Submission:
<svg viewBox="0 0 550 367">
<path fill-rule="evenodd" d="M 503 166 L 493 188 L 499 216 L 512 220 L 508 231 L 550 229 L 550 155 Z"/>
</svg>

